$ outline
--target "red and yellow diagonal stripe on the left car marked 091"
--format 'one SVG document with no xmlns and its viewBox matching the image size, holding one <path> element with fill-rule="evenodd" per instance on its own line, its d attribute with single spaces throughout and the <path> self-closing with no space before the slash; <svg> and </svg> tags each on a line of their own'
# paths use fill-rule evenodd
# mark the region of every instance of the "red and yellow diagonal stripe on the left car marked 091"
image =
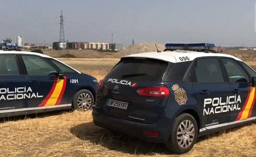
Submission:
<svg viewBox="0 0 256 157">
<path fill-rule="evenodd" d="M 39 107 L 59 105 L 64 95 L 65 88 L 66 76 L 64 76 L 64 79 L 59 79 L 59 77 L 55 77 L 50 92 L 48 93 L 46 98 L 41 102 Z"/>
</svg>

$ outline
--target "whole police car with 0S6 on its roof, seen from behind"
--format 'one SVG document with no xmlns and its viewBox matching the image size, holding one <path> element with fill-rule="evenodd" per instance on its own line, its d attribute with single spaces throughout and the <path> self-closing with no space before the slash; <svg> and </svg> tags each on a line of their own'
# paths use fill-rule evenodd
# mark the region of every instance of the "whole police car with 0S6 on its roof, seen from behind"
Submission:
<svg viewBox="0 0 256 157">
<path fill-rule="evenodd" d="M 100 81 L 95 125 L 186 153 L 199 136 L 255 121 L 250 66 L 214 44 L 165 46 L 122 57 Z"/>
</svg>

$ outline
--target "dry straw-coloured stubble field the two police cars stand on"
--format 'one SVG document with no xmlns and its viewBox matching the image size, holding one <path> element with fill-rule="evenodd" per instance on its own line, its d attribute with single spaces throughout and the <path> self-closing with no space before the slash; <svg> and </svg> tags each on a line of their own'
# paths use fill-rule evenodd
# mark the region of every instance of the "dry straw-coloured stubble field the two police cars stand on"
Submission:
<svg viewBox="0 0 256 157">
<path fill-rule="evenodd" d="M 118 58 L 60 59 L 98 80 Z M 255 63 L 248 62 L 256 65 Z M 91 111 L 0 119 L 0 157 L 256 157 L 256 124 L 201 137 L 184 155 L 94 126 Z"/>
</svg>

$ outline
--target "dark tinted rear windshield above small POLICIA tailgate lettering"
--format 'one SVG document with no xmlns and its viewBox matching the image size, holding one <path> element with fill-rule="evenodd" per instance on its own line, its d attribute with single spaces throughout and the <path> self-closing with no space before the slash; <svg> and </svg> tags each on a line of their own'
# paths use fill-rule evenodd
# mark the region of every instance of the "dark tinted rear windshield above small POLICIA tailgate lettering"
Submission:
<svg viewBox="0 0 256 157">
<path fill-rule="evenodd" d="M 132 57 L 122 58 L 107 77 L 137 81 L 160 81 L 167 65 L 168 62 L 162 60 Z"/>
</svg>

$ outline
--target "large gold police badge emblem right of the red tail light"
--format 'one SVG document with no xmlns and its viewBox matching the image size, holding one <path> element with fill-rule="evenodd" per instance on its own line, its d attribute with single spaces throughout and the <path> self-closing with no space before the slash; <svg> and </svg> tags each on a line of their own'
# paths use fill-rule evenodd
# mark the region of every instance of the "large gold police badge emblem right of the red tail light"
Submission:
<svg viewBox="0 0 256 157">
<path fill-rule="evenodd" d="M 178 102 L 179 105 L 184 105 L 187 102 L 187 93 L 186 91 L 179 87 L 178 84 L 174 84 L 171 89 L 174 91 L 174 97 L 176 102 Z"/>
</svg>

